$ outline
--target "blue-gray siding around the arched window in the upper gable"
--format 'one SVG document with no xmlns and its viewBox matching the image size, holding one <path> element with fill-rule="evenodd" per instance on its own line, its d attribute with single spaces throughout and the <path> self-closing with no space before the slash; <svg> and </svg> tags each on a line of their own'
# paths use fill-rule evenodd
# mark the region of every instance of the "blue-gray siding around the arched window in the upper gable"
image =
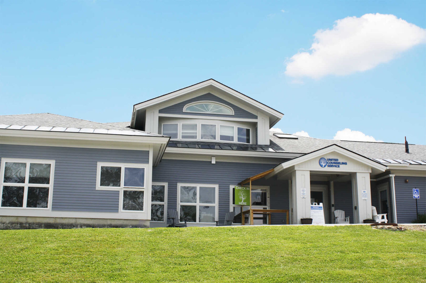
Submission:
<svg viewBox="0 0 426 283">
<path fill-rule="evenodd" d="M 239 108 L 236 105 L 233 105 L 232 103 L 227 102 L 224 99 L 221 99 L 219 97 L 217 97 L 214 94 L 211 93 L 206 93 L 197 97 L 194 97 L 192 99 L 188 99 L 184 102 L 179 102 L 175 105 L 171 105 L 168 106 L 166 108 L 160 109 L 158 111 L 158 113 L 164 113 L 164 114 L 184 114 L 184 115 L 199 115 L 199 116 L 220 116 L 220 117 L 224 117 L 225 119 L 227 117 L 229 117 L 229 115 L 221 115 L 221 114 L 212 114 L 212 113 L 188 113 L 188 112 L 183 112 L 184 110 L 184 106 L 187 105 L 188 103 L 192 103 L 192 102 L 197 102 L 197 101 L 204 101 L 204 100 L 208 100 L 208 101 L 214 101 L 214 102 L 219 102 L 225 105 L 228 105 L 230 108 L 232 108 L 234 110 L 234 115 L 232 117 L 235 118 L 248 118 L 248 119 L 257 119 L 257 116 L 242 109 Z"/>
</svg>

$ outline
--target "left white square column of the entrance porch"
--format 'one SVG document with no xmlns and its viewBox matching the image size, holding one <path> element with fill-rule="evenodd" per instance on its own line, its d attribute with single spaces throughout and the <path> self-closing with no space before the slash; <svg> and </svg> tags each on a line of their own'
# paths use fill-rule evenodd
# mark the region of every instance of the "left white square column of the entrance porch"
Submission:
<svg viewBox="0 0 426 283">
<path fill-rule="evenodd" d="M 306 197 L 302 198 L 301 189 L 306 189 Z M 293 224 L 301 224 L 300 218 L 311 217 L 311 178 L 308 170 L 295 170 L 291 175 L 293 199 Z"/>
</svg>

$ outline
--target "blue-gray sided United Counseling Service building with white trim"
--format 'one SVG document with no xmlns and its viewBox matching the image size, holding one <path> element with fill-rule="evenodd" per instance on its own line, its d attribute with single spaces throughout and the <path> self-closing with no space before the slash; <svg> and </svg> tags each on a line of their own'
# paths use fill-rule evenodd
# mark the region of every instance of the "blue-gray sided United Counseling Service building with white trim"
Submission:
<svg viewBox="0 0 426 283">
<path fill-rule="evenodd" d="M 410 223 L 413 188 L 426 213 L 426 146 L 271 132 L 282 116 L 213 79 L 130 122 L 0 116 L 0 228 L 167 226 L 167 210 L 188 226 L 301 224 L 316 207 L 318 223 Z"/>
</svg>

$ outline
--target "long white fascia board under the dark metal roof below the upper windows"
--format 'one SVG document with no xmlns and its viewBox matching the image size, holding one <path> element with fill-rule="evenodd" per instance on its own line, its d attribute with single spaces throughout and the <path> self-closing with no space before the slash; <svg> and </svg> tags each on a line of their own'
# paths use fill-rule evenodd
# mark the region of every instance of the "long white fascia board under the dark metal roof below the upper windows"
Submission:
<svg viewBox="0 0 426 283">
<path fill-rule="evenodd" d="M 282 152 L 262 152 L 262 151 L 242 151 L 242 150 L 217 150 L 204 148 L 182 148 L 167 147 L 166 153 L 185 153 L 185 154 L 203 154 L 210 156 L 252 156 L 252 157 L 272 157 L 272 158 L 294 158 L 300 156 L 300 153 L 282 153 Z"/>
</svg>

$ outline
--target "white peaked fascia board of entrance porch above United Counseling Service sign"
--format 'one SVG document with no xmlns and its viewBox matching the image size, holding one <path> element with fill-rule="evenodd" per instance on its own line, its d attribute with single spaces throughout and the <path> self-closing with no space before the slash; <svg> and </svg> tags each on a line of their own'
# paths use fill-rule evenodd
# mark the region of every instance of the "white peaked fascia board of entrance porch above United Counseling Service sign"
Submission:
<svg viewBox="0 0 426 283">
<path fill-rule="evenodd" d="M 352 158 L 356 161 L 364 163 L 364 164 L 366 164 L 370 167 L 373 167 L 377 170 L 380 170 L 380 171 L 385 171 L 388 168 L 388 167 L 386 167 L 386 165 L 382 165 L 382 164 L 379 164 L 377 162 L 374 162 L 369 158 L 359 156 L 358 154 L 352 153 L 349 150 L 345 150 L 345 149 L 338 147 L 336 145 L 332 145 L 330 147 L 325 147 L 321 150 L 314 151 L 313 153 L 308 153 L 308 154 L 301 156 L 299 158 L 296 158 L 294 160 L 289 160 L 289 161 L 283 162 L 282 164 L 279 164 L 274 168 L 273 174 L 279 173 L 280 171 L 282 171 L 282 170 L 284 170 L 288 167 L 295 166 L 296 164 L 302 163 L 304 161 L 308 161 L 308 160 L 311 160 L 313 158 L 317 158 L 317 157 L 320 157 L 322 155 L 325 155 L 327 153 L 332 153 L 332 152 L 340 153 L 344 156 Z"/>
</svg>

